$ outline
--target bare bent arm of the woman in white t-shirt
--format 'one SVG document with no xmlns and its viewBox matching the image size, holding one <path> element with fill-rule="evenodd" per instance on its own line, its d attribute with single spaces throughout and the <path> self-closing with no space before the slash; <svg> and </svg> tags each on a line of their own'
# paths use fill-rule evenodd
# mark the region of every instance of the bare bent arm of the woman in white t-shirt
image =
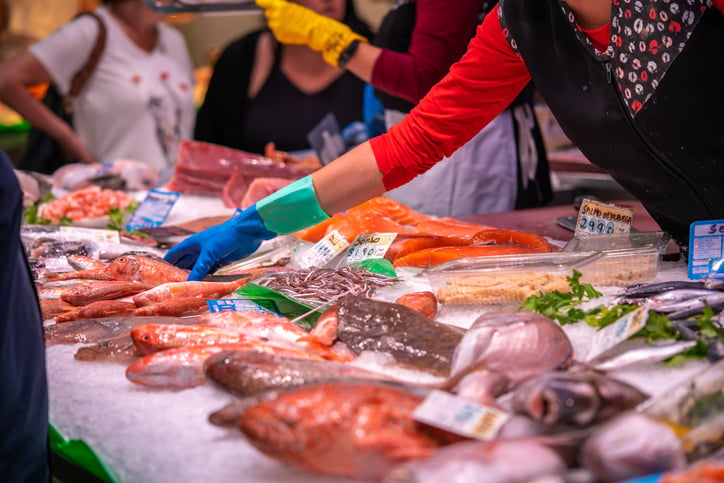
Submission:
<svg viewBox="0 0 724 483">
<path fill-rule="evenodd" d="M 0 65 L 0 101 L 7 104 L 36 128 L 56 139 L 68 159 L 94 162 L 68 124 L 45 104 L 33 97 L 28 87 L 52 81 L 50 73 L 33 54 L 25 51 Z"/>
</svg>

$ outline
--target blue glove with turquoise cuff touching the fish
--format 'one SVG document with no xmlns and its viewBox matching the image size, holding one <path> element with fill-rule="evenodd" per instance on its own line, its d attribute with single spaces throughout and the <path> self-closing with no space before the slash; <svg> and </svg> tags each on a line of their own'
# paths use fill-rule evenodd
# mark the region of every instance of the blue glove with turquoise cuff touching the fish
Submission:
<svg viewBox="0 0 724 483">
<path fill-rule="evenodd" d="M 207 273 L 255 252 L 264 240 L 327 218 L 308 175 L 221 225 L 191 235 L 169 250 L 164 260 L 181 268 L 193 267 L 188 280 L 202 280 Z"/>
</svg>

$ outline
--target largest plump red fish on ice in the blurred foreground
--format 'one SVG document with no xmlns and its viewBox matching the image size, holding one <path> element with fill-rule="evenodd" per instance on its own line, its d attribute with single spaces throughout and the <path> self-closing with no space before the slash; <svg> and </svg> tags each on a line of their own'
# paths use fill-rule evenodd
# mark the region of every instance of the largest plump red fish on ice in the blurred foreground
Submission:
<svg viewBox="0 0 724 483">
<path fill-rule="evenodd" d="M 423 396 L 403 384 L 320 382 L 274 395 L 260 395 L 238 427 L 265 455 L 314 473 L 379 479 L 448 442 L 413 419 Z"/>
</svg>

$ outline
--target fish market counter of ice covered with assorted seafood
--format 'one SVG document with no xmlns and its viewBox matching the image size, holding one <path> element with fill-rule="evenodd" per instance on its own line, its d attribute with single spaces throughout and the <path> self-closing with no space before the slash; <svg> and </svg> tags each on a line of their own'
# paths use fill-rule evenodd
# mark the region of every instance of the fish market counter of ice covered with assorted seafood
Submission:
<svg viewBox="0 0 724 483">
<path fill-rule="evenodd" d="M 154 235 L 232 216 L 255 170 L 299 175 L 224 151 L 251 174 L 215 176 L 194 160 L 218 148 L 184 149 L 169 181 L 181 195 Z M 54 450 L 119 482 L 683 469 L 721 449 L 723 287 L 688 280 L 668 235 L 625 203 L 631 234 L 575 238 L 557 224 L 569 207 L 440 220 L 374 198 L 201 282 L 159 258 L 174 237 L 24 227 Z M 627 469 L 631 454 L 643 462 Z"/>
</svg>

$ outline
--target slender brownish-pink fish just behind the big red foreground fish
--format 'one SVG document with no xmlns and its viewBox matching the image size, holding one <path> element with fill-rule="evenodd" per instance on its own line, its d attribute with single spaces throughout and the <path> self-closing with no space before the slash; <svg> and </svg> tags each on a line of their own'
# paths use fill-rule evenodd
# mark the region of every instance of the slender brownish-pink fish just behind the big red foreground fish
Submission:
<svg viewBox="0 0 724 483">
<path fill-rule="evenodd" d="M 330 379 L 390 379 L 341 362 L 300 359 L 291 351 L 221 352 L 209 357 L 205 372 L 219 386 L 240 396 Z"/>
</svg>

